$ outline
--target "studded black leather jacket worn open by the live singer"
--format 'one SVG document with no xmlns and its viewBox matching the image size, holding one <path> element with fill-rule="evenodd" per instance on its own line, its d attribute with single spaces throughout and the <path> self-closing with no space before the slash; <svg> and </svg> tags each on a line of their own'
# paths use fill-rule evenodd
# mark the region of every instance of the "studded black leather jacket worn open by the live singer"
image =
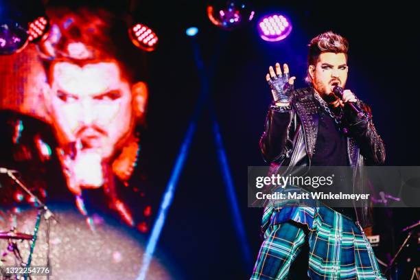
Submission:
<svg viewBox="0 0 420 280">
<path fill-rule="evenodd" d="M 277 174 L 279 167 L 311 165 L 318 134 L 318 101 L 314 89 L 296 89 L 292 94 L 290 110 L 270 108 L 266 118 L 265 131 L 259 145 L 266 162 L 270 163 L 270 174 Z M 385 148 L 373 125 L 369 106 L 358 101 L 365 116 L 358 117 L 346 111 L 347 155 L 353 168 L 353 189 L 359 194 L 366 191 L 362 167 L 367 163 L 380 165 L 385 161 Z M 369 205 L 355 208 L 356 222 L 362 227 L 370 224 Z"/>
</svg>

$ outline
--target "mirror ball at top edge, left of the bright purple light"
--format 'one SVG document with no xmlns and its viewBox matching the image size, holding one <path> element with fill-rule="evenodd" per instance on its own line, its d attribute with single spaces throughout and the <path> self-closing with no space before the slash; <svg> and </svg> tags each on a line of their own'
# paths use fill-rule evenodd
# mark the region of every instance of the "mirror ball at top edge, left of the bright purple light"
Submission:
<svg viewBox="0 0 420 280">
<path fill-rule="evenodd" d="M 255 12 L 248 3 L 220 0 L 211 2 L 207 5 L 207 16 L 211 23 L 224 30 L 233 30 L 253 20 Z"/>
</svg>

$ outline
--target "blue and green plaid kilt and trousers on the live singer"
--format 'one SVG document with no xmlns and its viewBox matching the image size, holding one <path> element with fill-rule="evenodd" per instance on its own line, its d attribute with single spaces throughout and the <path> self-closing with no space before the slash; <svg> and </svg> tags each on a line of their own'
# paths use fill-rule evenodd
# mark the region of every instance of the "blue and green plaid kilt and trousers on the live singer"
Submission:
<svg viewBox="0 0 420 280">
<path fill-rule="evenodd" d="M 251 280 L 286 279 L 305 242 L 310 250 L 310 279 L 385 279 L 361 229 L 328 207 L 276 208 L 270 203 L 261 229 L 264 242 Z"/>
</svg>

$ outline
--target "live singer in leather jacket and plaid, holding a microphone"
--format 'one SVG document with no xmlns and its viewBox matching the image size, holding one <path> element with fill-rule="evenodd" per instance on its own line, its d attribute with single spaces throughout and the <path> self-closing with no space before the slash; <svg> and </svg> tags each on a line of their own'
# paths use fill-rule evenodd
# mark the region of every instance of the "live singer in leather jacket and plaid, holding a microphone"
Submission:
<svg viewBox="0 0 420 280">
<path fill-rule="evenodd" d="M 273 105 L 260 147 L 270 170 L 351 166 L 355 190 L 362 193 L 360 167 L 384 163 L 385 149 L 369 106 L 349 89 L 342 99 L 333 93 L 335 86 L 345 88 L 348 47 L 346 38 L 333 32 L 311 40 L 307 89 L 294 90 L 295 77 L 290 78 L 288 65 L 283 65 L 283 72 L 279 63 L 269 68 L 266 80 Z M 349 104 L 361 108 L 362 114 Z M 261 227 L 264 242 L 251 279 L 384 279 L 362 230 L 368 223 L 367 207 L 351 210 L 278 207 L 268 201 Z M 295 275 L 290 267 L 302 257 L 305 268 L 299 267 Z"/>
</svg>

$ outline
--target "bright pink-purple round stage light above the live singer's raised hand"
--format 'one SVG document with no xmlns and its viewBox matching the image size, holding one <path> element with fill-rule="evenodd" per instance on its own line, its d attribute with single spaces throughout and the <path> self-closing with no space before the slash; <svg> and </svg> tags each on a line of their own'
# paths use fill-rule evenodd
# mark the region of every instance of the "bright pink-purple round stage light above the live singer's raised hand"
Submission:
<svg viewBox="0 0 420 280">
<path fill-rule="evenodd" d="M 269 42 L 277 42 L 292 32 L 290 20 L 282 14 L 264 16 L 258 23 L 259 36 Z"/>
</svg>

